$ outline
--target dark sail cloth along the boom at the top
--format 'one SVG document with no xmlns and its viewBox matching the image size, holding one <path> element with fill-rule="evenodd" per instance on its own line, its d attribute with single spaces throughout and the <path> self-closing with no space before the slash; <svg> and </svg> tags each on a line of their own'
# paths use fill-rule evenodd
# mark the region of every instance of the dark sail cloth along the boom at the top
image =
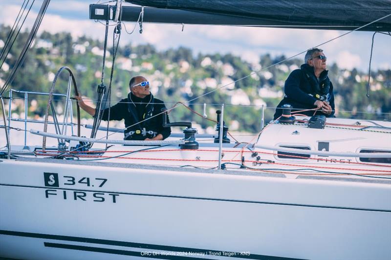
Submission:
<svg viewBox="0 0 391 260">
<path fill-rule="evenodd" d="M 391 14 L 391 0 L 125 0 L 144 9 L 144 22 L 354 30 Z M 139 7 L 123 6 L 136 21 Z M 135 12 L 133 15 L 131 12 Z M 129 19 L 130 17 L 135 17 Z M 391 31 L 391 16 L 361 31 Z"/>
</svg>

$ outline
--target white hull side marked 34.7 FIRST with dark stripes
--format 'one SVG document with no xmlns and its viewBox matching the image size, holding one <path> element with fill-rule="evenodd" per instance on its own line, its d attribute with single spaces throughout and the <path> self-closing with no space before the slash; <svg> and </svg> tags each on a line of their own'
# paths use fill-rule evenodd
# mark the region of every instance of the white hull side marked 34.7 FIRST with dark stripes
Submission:
<svg viewBox="0 0 391 260">
<path fill-rule="evenodd" d="M 1 257 L 391 259 L 389 181 L 42 159 L 0 172 Z"/>
</svg>

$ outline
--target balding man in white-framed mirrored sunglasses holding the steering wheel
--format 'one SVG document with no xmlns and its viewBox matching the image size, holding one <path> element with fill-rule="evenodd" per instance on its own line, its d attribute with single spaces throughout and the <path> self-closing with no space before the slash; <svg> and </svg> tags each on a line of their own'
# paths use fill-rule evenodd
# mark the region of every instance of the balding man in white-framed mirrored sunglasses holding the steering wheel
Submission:
<svg viewBox="0 0 391 260">
<path fill-rule="evenodd" d="M 171 134 L 170 127 L 163 127 L 163 115 L 158 115 L 166 108 L 162 100 L 155 99 L 150 92 L 149 81 L 142 76 L 129 81 L 128 98 L 102 110 L 102 120 L 125 120 L 125 140 L 164 140 Z M 80 107 L 91 116 L 95 108 L 87 105 L 81 95 L 75 96 Z M 169 120 L 167 120 L 169 122 Z"/>
</svg>

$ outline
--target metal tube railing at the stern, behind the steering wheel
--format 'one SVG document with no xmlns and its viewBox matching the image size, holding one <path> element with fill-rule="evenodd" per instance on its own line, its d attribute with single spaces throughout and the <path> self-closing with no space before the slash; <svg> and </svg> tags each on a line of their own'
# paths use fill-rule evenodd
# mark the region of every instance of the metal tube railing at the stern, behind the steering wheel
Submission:
<svg viewBox="0 0 391 260">
<path fill-rule="evenodd" d="M 12 118 L 12 99 L 13 99 L 13 93 L 19 93 L 24 95 L 24 119 L 14 119 Z M 39 96 L 49 96 L 50 93 L 45 93 L 45 92 L 33 92 L 33 91 L 22 91 L 22 90 L 15 90 L 15 89 L 10 89 L 9 90 L 9 103 L 8 103 L 8 136 L 10 136 L 10 130 L 11 130 L 11 121 L 23 121 L 24 122 L 24 146 L 27 144 L 27 123 L 32 122 L 32 123 L 44 123 L 42 120 L 31 120 L 27 119 L 27 114 L 28 114 L 28 95 L 39 95 Z M 65 94 L 58 94 L 58 93 L 53 93 L 53 96 L 56 97 L 65 97 L 65 99 L 69 99 L 69 96 Z M 66 105 L 68 106 L 67 109 L 69 109 L 70 113 L 70 123 L 66 123 L 66 126 L 71 126 L 71 133 L 73 135 L 73 111 L 72 111 L 72 104 L 71 102 L 67 101 Z M 49 121 L 49 124 L 55 124 L 54 121 Z"/>
</svg>

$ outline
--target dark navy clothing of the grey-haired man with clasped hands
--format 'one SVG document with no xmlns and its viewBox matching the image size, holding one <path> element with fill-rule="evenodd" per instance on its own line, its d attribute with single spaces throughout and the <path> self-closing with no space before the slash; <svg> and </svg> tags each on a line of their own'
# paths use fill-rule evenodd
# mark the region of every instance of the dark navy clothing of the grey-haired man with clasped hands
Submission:
<svg viewBox="0 0 391 260">
<path fill-rule="evenodd" d="M 290 104 L 293 108 L 292 112 L 305 109 L 316 108 L 314 105 L 316 100 L 327 100 L 333 112 L 326 115 L 321 111 L 317 111 L 317 115 L 324 115 L 326 117 L 334 117 L 334 93 L 333 84 L 328 79 L 327 70 L 320 75 L 319 81 L 316 79 L 313 68 L 308 64 L 303 64 L 301 69 L 291 72 L 285 81 L 284 93 L 285 97 L 278 104 L 274 120 L 282 115 L 282 105 Z M 314 110 L 300 112 L 307 116 L 313 116 Z"/>
</svg>

